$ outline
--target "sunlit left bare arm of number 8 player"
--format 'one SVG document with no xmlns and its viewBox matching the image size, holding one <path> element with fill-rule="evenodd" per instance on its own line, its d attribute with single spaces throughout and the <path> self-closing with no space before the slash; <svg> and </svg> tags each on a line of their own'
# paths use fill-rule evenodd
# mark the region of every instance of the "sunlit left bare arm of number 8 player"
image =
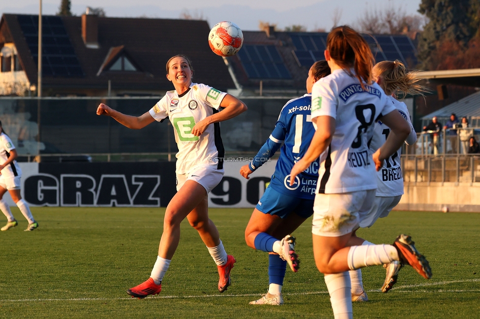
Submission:
<svg viewBox="0 0 480 319">
<path fill-rule="evenodd" d="M 335 119 L 331 116 L 318 116 L 313 118 L 312 122 L 317 125 L 317 131 L 315 131 L 315 134 L 313 135 L 305 156 L 292 167 L 292 171 L 290 172 L 290 186 L 295 182 L 295 177 L 307 169 L 312 161 L 318 159 L 320 154 L 327 149 L 333 138 L 333 133 L 335 133 L 336 123 Z"/>
</svg>

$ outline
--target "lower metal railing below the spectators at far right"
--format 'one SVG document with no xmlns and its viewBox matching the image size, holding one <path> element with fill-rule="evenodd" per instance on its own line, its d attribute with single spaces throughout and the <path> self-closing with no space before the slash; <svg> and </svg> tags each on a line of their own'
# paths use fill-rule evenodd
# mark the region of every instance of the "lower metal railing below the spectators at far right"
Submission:
<svg viewBox="0 0 480 319">
<path fill-rule="evenodd" d="M 478 155 L 402 155 L 405 183 L 479 183 Z"/>
</svg>

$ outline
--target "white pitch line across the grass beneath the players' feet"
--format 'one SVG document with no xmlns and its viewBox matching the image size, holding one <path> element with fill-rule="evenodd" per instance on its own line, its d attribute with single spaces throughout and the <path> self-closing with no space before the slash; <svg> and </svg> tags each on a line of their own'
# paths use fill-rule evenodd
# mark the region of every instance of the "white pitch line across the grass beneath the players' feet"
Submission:
<svg viewBox="0 0 480 319">
<path fill-rule="evenodd" d="M 439 282 L 432 282 L 432 283 L 424 283 L 424 284 L 417 284 L 417 285 L 405 285 L 405 286 L 397 286 L 392 288 L 391 290 L 399 290 L 399 292 L 422 292 L 422 293 L 431 293 L 431 292 L 480 292 L 478 289 L 471 289 L 471 290 L 403 290 L 405 288 L 416 288 L 416 287 L 427 287 L 427 286 L 441 286 L 441 285 L 448 285 L 454 283 L 466 283 L 466 282 L 479 282 L 480 279 L 467 279 L 467 280 L 451 280 L 451 281 L 439 281 Z M 367 292 L 380 292 L 379 289 L 369 290 Z M 294 293 L 284 293 L 287 296 L 299 296 L 299 295 L 311 295 L 311 294 L 328 294 L 328 291 L 318 291 L 318 292 L 294 292 Z M 148 296 L 146 299 L 183 299 L 183 298 L 213 298 L 213 297 L 253 297 L 259 296 L 258 293 L 246 293 L 246 294 L 202 294 L 202 295 L 189 295 L 189 296 Z M 111 300 L 136 300 L 137 298 L 131 297 L 120 297 L 120 298 L 55 298 L 55 299 L 0 299 L 0 302 L 26 302 L 26 301 L 111 301 Z"/>
</svg>

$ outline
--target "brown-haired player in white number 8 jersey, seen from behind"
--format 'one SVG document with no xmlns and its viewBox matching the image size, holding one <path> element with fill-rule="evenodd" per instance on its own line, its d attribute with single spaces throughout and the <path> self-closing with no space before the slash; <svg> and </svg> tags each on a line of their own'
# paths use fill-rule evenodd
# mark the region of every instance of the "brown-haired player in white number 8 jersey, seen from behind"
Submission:
<svg viewBox="0 0 480 319">
<path fill-rule="evenodd" d="M 401 261 L 427 279 L 432 273 L 410 236 L 400 235 L 393 245 L 361 245 L 364 240 L 352 236 L 359 212 L 370 210 L 375 200 L 375 169 L 401 147 L 410 126 L 372 81 L 373 55 L 359 33 L 346 26 L 334 28 L 325 59 L 331 75 L 312 88 L 317 131 L 292 168 L 290 185 L 320 156 L 312 227 L 315 263 L 325 274 L 335 318 L 353 318 L 349 270 Z M 368 144 L 377 120 L 392 133 L 372 160 Z"/>
</svg>

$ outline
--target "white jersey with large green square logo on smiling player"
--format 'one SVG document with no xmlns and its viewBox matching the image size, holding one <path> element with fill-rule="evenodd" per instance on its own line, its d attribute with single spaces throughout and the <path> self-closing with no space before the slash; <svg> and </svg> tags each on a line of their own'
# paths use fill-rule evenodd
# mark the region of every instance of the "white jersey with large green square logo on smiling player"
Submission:
<svg viewBox="0 0 480 319">
<path fill-rule="evenodd" d="M 159 122 L 168 117 L 175 132 L 179 148 L 177 174 L 188 174 L 192 169 L 213 166 L 223 169 L 223 148 L 220 123 L 208 126 L 200 136 L 192 134 L 196 123 L 218 112 L 227 93 L 208 85 L 192 83 L 182 94 L 169 91 L 150 109 L 150 115 Z"/>
</svg>

